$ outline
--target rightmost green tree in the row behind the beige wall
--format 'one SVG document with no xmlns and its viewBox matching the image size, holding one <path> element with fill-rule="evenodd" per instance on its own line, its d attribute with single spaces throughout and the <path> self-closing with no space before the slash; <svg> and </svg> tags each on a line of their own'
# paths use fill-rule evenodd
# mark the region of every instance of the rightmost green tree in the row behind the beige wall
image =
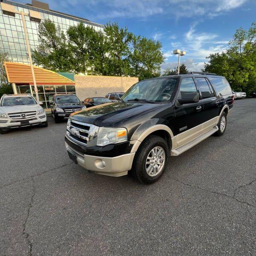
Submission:
<svg viewBox="0 0 256 256">
<path fill-rule="evenodd" d="M 139 80 L 160 76 L 164 61 L 161 48 L 159 41 L 133 35 L 128 55 L 130 75 L 138 76 Z"/>
</svg>

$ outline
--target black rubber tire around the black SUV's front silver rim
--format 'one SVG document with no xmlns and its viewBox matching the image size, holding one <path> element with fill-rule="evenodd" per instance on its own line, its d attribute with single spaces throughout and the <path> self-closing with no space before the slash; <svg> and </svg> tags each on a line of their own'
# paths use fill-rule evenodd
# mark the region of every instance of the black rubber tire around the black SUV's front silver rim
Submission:
<svg viewBox="0 0 256 256">
<path fill-rule="evenodd" d="M 145 164 L 146 164 L 148 154 L 150 154 L 151 150 L 155 147 L 161 147 L 164 150 L 165 161 L 163 163 L 163 167 L 160 170 L 160 172 L 156 176 L 151 177 L 146 172 Z M 141 143 L 137 153 L 135 154 L 133 166 L 130 171 L 131 175 L 134 178 L 136 178 L 140 183 L 145 183 L 145 184 L 154 183 L 157 180 L 159 180 L 160 177 L 163 175 L 163 172 L 165 171 L 166 165 L 168 163 L 168 159 L 169 159 L 169 147 L 166 140 L 156 135 L 150 135 L 143 141 L 143 143 Z"/>
</svg>

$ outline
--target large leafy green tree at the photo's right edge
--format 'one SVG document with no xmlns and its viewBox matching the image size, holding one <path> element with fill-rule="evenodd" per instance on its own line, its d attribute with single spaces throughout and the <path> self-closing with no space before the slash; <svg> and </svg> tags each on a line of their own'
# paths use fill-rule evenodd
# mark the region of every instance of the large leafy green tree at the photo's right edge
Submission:
<svg viewBox="0 0 256 256">
<path fill-rule="evenodd" d="M 256 90 L 256 23 L 248 31 L 237 29 L 229 45 L 227 52 L 209 55 L 203 71 L 225 76 L 233 90 L 250 94 Z"/>
</svg>

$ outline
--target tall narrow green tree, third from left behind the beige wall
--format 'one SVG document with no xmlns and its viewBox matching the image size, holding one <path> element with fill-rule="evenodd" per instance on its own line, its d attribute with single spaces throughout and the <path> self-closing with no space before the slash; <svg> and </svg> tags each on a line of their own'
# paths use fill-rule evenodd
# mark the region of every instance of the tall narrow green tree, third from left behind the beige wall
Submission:
<svg viewBox="0 0 256 256">
<path fill-rule="evenodd" d="M 104 28 L 108 38 L 108 74 L 111 76 L 127 76 L 129 74 L 129 43 L 132 33 L 120 28 L 117 23 L 107 23 Z"/>
</svg>

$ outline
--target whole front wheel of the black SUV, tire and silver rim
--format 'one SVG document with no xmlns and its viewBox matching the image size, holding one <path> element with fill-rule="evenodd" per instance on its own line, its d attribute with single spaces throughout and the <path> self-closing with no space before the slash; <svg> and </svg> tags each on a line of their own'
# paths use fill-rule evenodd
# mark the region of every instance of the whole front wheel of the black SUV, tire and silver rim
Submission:
<svg viewBox="0 0 256 256">
<path fill-rule="evenodd" d="M 131 173 L 141 183 L 154 183 L 163 175 L 168 159 L 169 147 L 166 140 L 151 135 L 141 143 Z"/>
</svg>

